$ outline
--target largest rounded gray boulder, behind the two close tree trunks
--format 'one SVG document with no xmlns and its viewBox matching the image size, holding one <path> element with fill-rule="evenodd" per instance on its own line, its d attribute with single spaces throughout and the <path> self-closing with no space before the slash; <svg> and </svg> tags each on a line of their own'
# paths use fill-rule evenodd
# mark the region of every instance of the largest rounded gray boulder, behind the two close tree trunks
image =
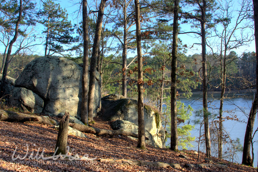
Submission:
<svg viewBox="0 0 258 172">
<path fill-rule="evenodd" d="M 25 67 L 16 79 L 15 87 L 26 88 L 41 97 L 43 113 L 57 115 L 67 111 L 71 116 L 80 117 L 82 70 L 80 65 L 66 58 L 39 57 Z M 96 73 L 94 115 L 101 107 L 101 77 Z M 15 93 L 13 100 L 19 100 L 20 93 Z M 17 105 L 16 101 L 11 101 L 11 104 Z"/>
</svg>

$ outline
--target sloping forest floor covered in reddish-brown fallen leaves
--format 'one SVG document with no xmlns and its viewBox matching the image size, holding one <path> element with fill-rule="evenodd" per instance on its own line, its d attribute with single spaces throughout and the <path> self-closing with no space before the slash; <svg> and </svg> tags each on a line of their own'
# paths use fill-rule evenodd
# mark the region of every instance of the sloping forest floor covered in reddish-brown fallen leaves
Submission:
<svg viewBox="0 0 258 172">
<path fill-rule="evenodd" d="M 95 121 L 94 127 L 110 129 L 107 122 L 98 119 Z M 95 136 L 87 133 L 85 138 L 68 135 L 67 145 L 70 147 L 71 156 L 78 154 L 82 157 L 87 154 L 91 160 L 29 158 L 31 154 L 35 157 L 38 149 L 38 155 L 41 155 L 43 148 L 44 157 L 51 157 L 55 150 L 57 134 L 58 131 L 49 125 L 0 121 L 0 171 L 257 171 L 252 167 L 214 157 L 211 158 L 210 164 L 224 164 L 227 168 L 215 166 L 190 168 L 187 164 L 205 163 L 205 154 L 201 152 L 200 160 L 197 161 L 198 154 L 192 150 L 175 152 L 148 145 L 147 150 L 140 150 L 136 148 L 137 142 L 126 136 Z M 18 154 L 25 159 L 12 160 L 12 157 L 17 158 Z M 185 157 L 179 157 L 180 154 Z M 100 158 L 177 163 L 181 168 L 108 163 L 101 161 Z"/>
</svg>

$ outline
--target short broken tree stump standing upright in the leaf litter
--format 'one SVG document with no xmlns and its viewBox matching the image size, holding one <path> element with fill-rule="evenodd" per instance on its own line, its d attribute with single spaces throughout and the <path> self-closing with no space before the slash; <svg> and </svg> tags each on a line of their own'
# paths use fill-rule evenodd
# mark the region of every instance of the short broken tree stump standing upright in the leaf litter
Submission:
<svg viewBox="0 0 258 172">
<path fill-rule="evenodd" d="M 57 135 L 57 145 L 55 150 L 57 150 L 55 155 L 65 155 L 67 153 L 67 136 L 68 136 L 68 124 L 69 124 L 69 113 L 65 112 L 59 123 L 58 135 Z"/>
</svg>

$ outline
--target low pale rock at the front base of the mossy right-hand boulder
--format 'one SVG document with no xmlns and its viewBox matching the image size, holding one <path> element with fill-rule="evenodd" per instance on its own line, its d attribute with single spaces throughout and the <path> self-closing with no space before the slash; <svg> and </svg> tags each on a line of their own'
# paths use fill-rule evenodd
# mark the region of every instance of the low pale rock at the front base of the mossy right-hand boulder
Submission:
<svg viewBox="0 0 258 172">
<path fill-rule="evenodd" d="M 138 134 L 138 126 L 130 121 L 116 120 L 112 122 L 111 128 L 113 130 L 123 129 L 125 132 L 132 132 Z M 145 136 L 149 138 L 149 140 L 145 140 L 146 144 L 157 147 L 155 140 L 153 139 L 152 135 L 148 132 L 148 130 L 145 130 Z M 130 138 L 137 140 L 137 138 L 134 137 Z"/>
</svg>

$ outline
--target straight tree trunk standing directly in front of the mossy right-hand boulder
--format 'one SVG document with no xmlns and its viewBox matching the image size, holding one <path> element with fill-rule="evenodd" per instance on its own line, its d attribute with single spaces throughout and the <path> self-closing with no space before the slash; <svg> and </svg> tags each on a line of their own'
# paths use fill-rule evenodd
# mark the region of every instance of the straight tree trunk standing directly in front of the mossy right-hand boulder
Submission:
<svg viewBox="0 0 258 172">
<path fill-rule="evenodd" d="M 139 0 L 134 0 L 135 22 L 136 22 L 136 43 L 138 61 L 138 144 L 137 148 L 146 149 L 145 146 L 145 125 L 143 112 L 143 71 L 142 71 L 142 47 L 141 47 L 141 25 L 140 25 L 140 5 Z"/>
</svg>

